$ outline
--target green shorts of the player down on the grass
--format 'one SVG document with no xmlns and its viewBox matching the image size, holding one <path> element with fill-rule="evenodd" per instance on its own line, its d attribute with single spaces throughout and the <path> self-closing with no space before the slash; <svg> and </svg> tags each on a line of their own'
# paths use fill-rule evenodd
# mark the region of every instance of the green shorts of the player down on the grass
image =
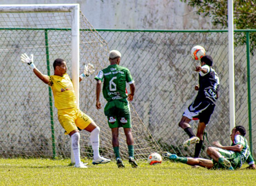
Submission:
<svg viewBox="0 0 256 186">
<path fill-rule="evenodd" d="M 243 156 L 240 155 L 239 153 L 235 153 L 234 151 L 228 151 L 224 149 L 218 148 L 219 153 L 224 156 L 228 161 L 230 161 L 232 167 L 234 169 L 240 168 L 242 164 L 244 163 L 243 161 Z M 223 169 L 225 168 L 223 165 L 221 165 L 219 162 L 216 162 L 213 160 L 213 169 Z"/>
</svg>

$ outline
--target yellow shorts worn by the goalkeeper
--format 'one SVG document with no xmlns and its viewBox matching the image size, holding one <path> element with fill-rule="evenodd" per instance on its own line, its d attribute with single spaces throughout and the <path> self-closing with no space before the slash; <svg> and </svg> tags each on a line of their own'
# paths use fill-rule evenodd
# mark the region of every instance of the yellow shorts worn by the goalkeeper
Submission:
<svg viewBox="0 0 256 186">
<path fill-rule="evenodd" d="M 79 129 L 85 129 L 93 120 L 78 108 L 58 110 L 58 119 L 61 126 L 65 129 L 65 134 Z"/>
</svg>

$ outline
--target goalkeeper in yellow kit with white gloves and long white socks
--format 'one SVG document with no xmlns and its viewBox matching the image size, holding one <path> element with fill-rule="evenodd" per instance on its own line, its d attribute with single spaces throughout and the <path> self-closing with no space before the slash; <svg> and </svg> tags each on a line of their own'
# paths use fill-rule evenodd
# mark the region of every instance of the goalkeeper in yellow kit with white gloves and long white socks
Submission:
<svg viewBox="0 0 256 186">
<path fill-rule="evenodd" d="M 30 57 L 24 53 L 21 55 L 22 63 L 28 65 L 36 76 L 48 84 L 53 92 L 55 99 L 55 107 L 58 109 L 58 119 L 61 126 L 65 129 L 65 134 L 71 137 L 71 146 L 75 157 L 75 167 L 87 168 L 80 161 L 80 134 L 79 129 L 84 129 L 90 132 L 90 140 L 93 149 L 93 161 L 92 164 L 108 163 L 109 159 L 101 157 L 99 155 L 99 132 L 100 128 L 96 123 L 85 113 L 77 108 L 76 96 L 73 89 L 73 84 L 67 73 L 67 64 L 63 59 L 55 59 L 53 62 L 54 75 L 47 76 L 42 74 L 33 63 L 33 54 Z M 84 77 L 89 76 L 95 70 L 92 64 L 85 65 L 83 74 L 80 75 L 79 81 Z"/>
</svg>

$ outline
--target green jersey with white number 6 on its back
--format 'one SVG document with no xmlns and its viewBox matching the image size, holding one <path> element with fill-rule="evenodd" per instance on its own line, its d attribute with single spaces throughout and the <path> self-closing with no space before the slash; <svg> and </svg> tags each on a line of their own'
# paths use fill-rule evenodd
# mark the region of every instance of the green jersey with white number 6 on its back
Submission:
<svg viewBox="0 0 256 186">
<path fill-rule="evenodd" d="M 117 64 L 109 65 L 100 70 L 95 79 L 104 81 L 102 91 L 107 101 L 127 98 L 126 82 L 128 84 L 134 83 L 129 69 Z"/>
</svg>

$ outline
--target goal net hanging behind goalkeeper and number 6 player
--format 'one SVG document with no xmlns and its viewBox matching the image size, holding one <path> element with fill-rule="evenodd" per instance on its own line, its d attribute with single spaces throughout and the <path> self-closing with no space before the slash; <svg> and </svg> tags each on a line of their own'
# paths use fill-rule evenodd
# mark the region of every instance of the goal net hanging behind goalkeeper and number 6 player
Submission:
<svg viewBox="0 0 256 186">
<path fill-rule="evenodd" d="M 40 8 L 40 9 L 39 9 Z M 0 12 L 0 156 L 1 157 L 69 157 L 70 137 L 64 135 L 50 87 L 20 62 L 22 53 L 34 54 L 34 63 L 46 75 L 52 75 L 52 63 L 63 58 L 72 68 L 72 18 L 71 11 L 58 8 L 35 11 Z M 104 110 L 97 110 L 96 80 L 99 70 L 109 65 L 108 44 L 99 35 L 86 17 L 80 12 L 79 74 L 83 65 L 95 66 L 95 74 L 79 84 L 80 109 L 99 125 L 100 154 L 114 158 L 111 144 L 111 130 Z M 118 48 L 113 48 L 117 49 Z M 76 74 L 78 77 L 79 74 Z M 101 103 L 106 101 L 101 95 Z M 140 120 L 131 105 L 132 132 L 134 136 L 135 158 L 143 159 L 152 152 L 160 152 L 160 147 Z M 82 158 L 92 157 L 90 133 L 80 132 L 80 153 Z M 119 131 L 120 155 L 128 157 L 124 131 Z"/>
</svg>

